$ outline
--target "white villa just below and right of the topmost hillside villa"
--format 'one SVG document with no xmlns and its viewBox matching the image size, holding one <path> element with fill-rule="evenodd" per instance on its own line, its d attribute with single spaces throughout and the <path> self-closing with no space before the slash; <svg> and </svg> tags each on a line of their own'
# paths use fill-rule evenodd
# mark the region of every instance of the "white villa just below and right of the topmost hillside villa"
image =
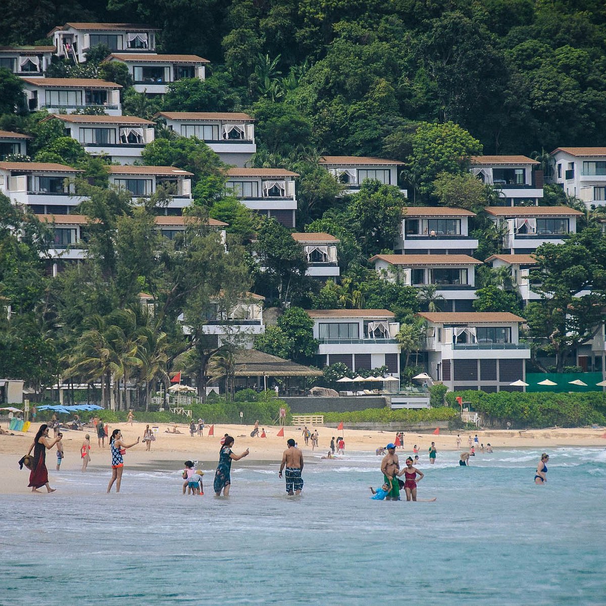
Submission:
<svg viewBox="0 0 606 606">
<path fill-rule="evenodd" d="M 138 93 L 164 94 L 167 84 L 185 78 L 204 80 L 205 65 L 210 63 L 198 55 L 144 55 L 112 53 L 106 61 L 118 61 L 128 67 L 133 88 Z"/>
</svg>

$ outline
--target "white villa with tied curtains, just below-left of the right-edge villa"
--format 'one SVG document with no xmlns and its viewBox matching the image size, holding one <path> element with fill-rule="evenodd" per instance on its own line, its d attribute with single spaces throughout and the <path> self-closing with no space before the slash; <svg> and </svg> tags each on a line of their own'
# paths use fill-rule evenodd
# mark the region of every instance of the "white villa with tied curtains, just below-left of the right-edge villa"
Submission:
<svg viewBox="0 0 606 606">
<path fill-rule="evenodd" d="M 533 253 L 544 242 L 562 244 L 576 233 L 583 213 L 568 206 L 488 206 L 490 219 L 504 230 L 503 248 L 511 254 Z"/>
</svg>

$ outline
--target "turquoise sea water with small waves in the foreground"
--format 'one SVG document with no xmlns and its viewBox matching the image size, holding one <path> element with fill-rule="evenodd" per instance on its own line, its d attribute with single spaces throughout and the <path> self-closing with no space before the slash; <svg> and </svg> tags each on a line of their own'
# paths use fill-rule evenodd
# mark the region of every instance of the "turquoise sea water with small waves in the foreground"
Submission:
<svg viewBox="0 0 606 606">
<path fill-rule="evenodd" d="M 290 499 L 269 462 L 235 463 L 229 499 L 211 463 L 203 497 L 174 464 L 109 496 L 107 469 L 52 471 L 55 494 L 0 501 L 0 604 L 605 604 L 606 451 L 551 451 L 543 487 L 540 454 L 438 453 L 416 504 L 371 501 L 362 453 L 310 460 Z"/>
</svg>

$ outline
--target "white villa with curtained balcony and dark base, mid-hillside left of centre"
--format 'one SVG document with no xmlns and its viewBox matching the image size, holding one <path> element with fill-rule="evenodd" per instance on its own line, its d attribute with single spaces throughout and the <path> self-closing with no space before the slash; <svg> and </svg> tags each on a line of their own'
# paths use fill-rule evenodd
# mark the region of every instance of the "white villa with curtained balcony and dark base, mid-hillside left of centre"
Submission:
<svg viewBox="0 0 606 606">
<path fill-rule="evenodd" d="M 245 207 L 285 227 L 295 227 L 295 178 L 284 168 L 229 168 L 227 190 Z"/>
</svg>

